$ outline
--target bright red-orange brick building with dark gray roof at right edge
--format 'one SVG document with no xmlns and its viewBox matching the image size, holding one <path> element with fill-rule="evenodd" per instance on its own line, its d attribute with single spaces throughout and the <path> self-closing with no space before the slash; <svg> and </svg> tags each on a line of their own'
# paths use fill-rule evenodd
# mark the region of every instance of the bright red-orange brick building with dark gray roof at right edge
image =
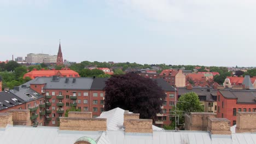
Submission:
<svg viewBox="0 0 256 144">
<path fill-rule="evenodd" d="M 256 90 L 219 89 L 217 117 L 236 124 L 237 112 L 256 112 Z"/>
</svg>

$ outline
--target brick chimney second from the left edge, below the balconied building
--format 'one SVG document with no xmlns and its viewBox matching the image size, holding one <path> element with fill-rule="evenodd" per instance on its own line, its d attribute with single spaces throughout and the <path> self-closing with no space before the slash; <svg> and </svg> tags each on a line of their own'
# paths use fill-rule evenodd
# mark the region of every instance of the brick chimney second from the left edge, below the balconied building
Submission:
<svg viewBox="0 0 256 144">
<path fill-rule="evenodd" d="M 13 125 L 31 125 L 30 110 L 12 109 L 7 112 L 13 116 Z"/>
</svg>

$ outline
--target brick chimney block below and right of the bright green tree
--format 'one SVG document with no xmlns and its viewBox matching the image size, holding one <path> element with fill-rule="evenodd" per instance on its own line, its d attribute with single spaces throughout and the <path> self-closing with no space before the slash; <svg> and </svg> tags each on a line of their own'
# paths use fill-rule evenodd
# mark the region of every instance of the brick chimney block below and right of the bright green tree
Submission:
<svg viewBox="0 0 256 144">
<path fill-rule="evenodd" d="M 207 130 L 208 118 L 215 118 L 212 112 L 191 112 L 190 116 L 185 116 L 185 130 Z"/>
</svg>

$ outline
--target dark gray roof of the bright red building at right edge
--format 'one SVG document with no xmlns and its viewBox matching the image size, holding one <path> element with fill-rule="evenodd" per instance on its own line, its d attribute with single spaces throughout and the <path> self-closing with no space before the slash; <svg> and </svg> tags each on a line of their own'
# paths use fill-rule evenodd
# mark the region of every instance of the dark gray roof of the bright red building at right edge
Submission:
<svg viewBox="0 0 256 144">
<path fill-rule="evenodd" d="M 221 89 L 219 92 L 227 99 L 237 99 L 237 103 L 241 104 L 256 104 L 255 90 L 230 90 Z"/>
</svg>

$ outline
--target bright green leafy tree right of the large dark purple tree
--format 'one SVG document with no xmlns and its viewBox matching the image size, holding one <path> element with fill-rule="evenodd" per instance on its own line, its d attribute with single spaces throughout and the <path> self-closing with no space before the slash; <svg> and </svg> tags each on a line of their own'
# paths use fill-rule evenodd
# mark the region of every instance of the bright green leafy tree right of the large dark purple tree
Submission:
<svg viewBox="0 0 256 144">
<path fill-rule="evenodd" d="M 177 108 L 184 112 L 203 112 L 199 97 L 195 92 L 181 95 L 177 103 Z"/>
</svg>

